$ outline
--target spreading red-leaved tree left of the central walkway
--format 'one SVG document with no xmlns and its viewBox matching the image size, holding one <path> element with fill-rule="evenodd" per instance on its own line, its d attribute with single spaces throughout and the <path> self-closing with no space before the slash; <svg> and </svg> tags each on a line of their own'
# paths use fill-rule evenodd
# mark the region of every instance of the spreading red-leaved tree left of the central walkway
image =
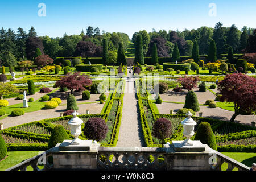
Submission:
<svg viewBox="0 0 256 182">
<path fill-rule="evenodd" d="M 55 86 L 67 87 L 71 94 L 73 90 L 85 90 L 84 86 L 92 85 L 92 80 L 85 74 L 80 75 L 81 72 L 76 72 L 71 75 L 68 73 L 67 77 L 62 77 L 61 80 L 57 81 Z"/>
</svg>

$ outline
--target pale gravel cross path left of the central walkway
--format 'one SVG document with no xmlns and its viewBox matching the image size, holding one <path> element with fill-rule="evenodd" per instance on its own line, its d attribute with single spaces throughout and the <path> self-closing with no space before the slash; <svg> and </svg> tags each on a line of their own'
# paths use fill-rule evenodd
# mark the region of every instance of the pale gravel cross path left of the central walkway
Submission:
<svg viewBox="0 0 256 182">
<path fill-rule="evenodd" d="M 92 103 L 92 104 L 80 104 L 78 113 L 86 114 L 86 110 L 89 109 L 90 114 L 99 114 L 104 106 L 104 104 Z M 42 119 L 56 118 L 60 117 L 60 113 L 66 110 L 66 106 L 59 106 L 56 109 L 42 109 L 31 113 L 25 113 L 19 117 L 6 117 L 1 120 L 3 123 L 3 128 L 22 125 L 24 123 L 29 123 L 33 121 L 39 121 Z"/>
</svg>

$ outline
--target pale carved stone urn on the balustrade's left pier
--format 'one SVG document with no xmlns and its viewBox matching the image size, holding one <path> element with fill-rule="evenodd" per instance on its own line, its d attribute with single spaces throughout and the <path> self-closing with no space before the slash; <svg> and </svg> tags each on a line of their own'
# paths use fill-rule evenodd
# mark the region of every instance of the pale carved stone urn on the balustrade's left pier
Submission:
<svg viewBox="0 0 256 182">
<path fill-rule="evenodd" d="M 82 121 L 82 119 L 77 117 L 77 115 L 79 115 L 79 113 L 77 113 L 77 111 L 74 111 L 72 113 L 72 115 L 73 115 L 73 118 L 68 122 L 68 125 L 71 127 L 71 134 L 75 138 L 72 140 L 71 144 L 79 145 L 81 140 L 78 137 L 82 133 L 81 125 L 82 125 L 83 121 Z"/>
</svg>

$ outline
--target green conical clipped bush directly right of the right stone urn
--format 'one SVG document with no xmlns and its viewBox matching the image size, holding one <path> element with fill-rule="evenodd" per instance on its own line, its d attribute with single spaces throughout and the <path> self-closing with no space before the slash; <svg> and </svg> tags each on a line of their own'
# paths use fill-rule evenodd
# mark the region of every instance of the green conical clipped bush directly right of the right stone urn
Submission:
<svg viewBox="0 0 256 182">
<path fill-rule="evenodd" d="M 213 150 L 217 150 L 216 139 L 208 122 L 199 124 L 194 140 L 200 140 L 203 144 L 207 144 Z"/>
</svg>

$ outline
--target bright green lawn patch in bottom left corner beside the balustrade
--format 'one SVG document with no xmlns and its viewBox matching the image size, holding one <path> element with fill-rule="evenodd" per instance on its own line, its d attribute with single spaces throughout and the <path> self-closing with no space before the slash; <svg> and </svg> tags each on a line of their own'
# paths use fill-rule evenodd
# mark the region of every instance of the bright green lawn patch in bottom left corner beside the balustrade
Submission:
<svg viewBox="0 0 256 182">
<path fill-rule="evenodd" d="M 19 163 L 23 162 L 24 160 L 32 158 L 38 154 L 39 154 L 39 151 L 7 152 L 7 155 L 8 155 L 7 158 L 0 162 L 0 171 L 9 169 L 10 167 L 13 167 L 16 164 L 19 164 Z M 32 167 L 28 167 L 27 169 L 29 171 L 32 171 Z"/>
</svg>

